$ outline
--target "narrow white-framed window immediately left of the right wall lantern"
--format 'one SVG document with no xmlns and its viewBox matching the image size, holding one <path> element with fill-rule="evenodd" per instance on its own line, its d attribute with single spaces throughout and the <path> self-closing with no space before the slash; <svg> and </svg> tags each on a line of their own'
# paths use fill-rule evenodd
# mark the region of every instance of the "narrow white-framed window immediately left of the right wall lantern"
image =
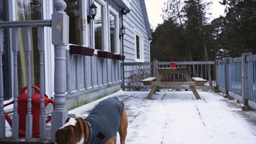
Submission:
<svg viewBox="0 0 256 144">
<path fill-rule="evenodd" d="M 119 53 L 119 17 L 118 12 L 109 7 L 109 47 L 110 52 Z"/>
</svg>

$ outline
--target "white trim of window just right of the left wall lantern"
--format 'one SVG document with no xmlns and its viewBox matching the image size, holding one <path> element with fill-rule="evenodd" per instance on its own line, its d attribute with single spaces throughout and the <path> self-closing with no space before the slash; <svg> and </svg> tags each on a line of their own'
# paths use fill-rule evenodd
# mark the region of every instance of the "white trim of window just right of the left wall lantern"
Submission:
<svg viewBox="0 0 256 144">
<path fill-rule="evenodd" d="M 107 3 L 103 0 L 95 0 L 97 3 L 99 3 L 102 7 L 103 7 L 103 13 L 102 13 L 102 19 L 103 19 L 103 23 L 102 23 L 102 27 L 103 27 L 103 49 L 102 51 L 108 51 L 108 26 L 107 26 L 107 18 L 108 18 L 108 13 L 107 13 Z M 92 22 L 92 37 L 93 37 L 93 47 L 95 49 L 95 34 L 94 34 L 94 22 Z M 97 49 L 95 49 L 96 51 L 94 51 L 94 54 L 97 55 Z"/>
</svg>

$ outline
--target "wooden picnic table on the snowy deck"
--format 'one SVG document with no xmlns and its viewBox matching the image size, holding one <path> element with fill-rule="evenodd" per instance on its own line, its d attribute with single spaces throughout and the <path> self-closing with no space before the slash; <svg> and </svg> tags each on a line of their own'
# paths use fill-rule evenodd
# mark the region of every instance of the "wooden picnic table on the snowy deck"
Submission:
<svg viewBox="0 0 256 144">
<path fill-rule="evenodd" d="M 188 75 L 188 68 L 158 68 L 158 77 L 149 77 L 148 79 L 142 80 L 144 85 L 147 86 L 153 86 L 148 94 L 148 99 L 152 98 L 152 95 L 155 93 L 156 89 L 158 86 L 189 86 L 191 91 L 194 93 L 196 99 L 201 99 L 200 95 L 196 91 L 195 86 L 201 85 L 204 83 L 206 80 L 203 80 L 199 77 L 195 77 L 191 81 Z M 163 80 L 164 76 L 167 74 L 171 74 L 172 80 L 171 81 L 166 81 Z M 184 76 L 184 81 L 175 81 L 173 77 L 175 74 L 182 74 Z"/>
</svg>

